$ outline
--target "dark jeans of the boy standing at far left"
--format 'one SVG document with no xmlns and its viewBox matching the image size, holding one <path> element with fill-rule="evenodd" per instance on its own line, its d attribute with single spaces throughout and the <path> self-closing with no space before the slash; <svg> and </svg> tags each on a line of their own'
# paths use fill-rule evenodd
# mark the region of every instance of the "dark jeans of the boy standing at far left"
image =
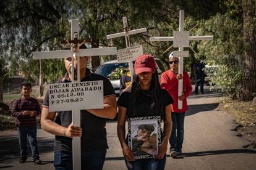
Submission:
<svg viewBox="0 0 256 170">
<path fill-rule="evenodd" d="M 31 147 L 33 161 L 39 158 L 38 146 L 36 140 L 36 125 L 31 127 L 17 127 L 19 132 L 20 156 L 27 158 L 27 138 Z"/>
</svg>

